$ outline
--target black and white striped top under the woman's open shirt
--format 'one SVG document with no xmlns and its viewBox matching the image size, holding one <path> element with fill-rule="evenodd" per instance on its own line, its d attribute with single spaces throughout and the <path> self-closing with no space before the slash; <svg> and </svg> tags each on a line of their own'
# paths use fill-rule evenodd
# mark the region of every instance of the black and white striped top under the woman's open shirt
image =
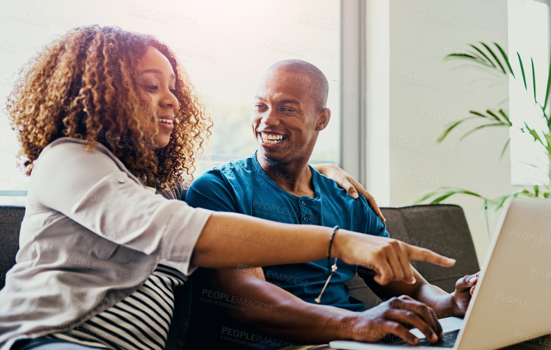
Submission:
<svg viewBox="0 0 551 350">
<path fill-rule="evenodd" d="M 161 259 L 147 281 L 121 302 L 58 338 L 116 350 L 163 350 L 174 314 L 175 289 L 187 277 Z"/>
</svg>

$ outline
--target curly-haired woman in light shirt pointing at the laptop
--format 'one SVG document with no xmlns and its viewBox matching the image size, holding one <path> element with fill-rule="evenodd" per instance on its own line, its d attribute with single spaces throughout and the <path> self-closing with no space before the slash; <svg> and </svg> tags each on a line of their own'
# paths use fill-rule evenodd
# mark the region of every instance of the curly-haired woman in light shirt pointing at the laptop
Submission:
<svg viewBox="0 0 551 350">
<path fill-rule="evenodd" d="M 153 36 L 68 31 L 21 69 L 7 108 L 30 184 L 17 263 L 0 291 L 2 350 L 181 346 L 197 266 L 314 261 L 330 241 L 331 256 L 352 264 L 378 263 L 391 246 L 447 264 L 381 237 L 339 230 L 333 239 L 331 228 L 179 200 L 212 121 Z M 261 247 L 235 239 L 248 235 Z M 381 270 L 405 276 L 386 262 Z"/>
</svg>

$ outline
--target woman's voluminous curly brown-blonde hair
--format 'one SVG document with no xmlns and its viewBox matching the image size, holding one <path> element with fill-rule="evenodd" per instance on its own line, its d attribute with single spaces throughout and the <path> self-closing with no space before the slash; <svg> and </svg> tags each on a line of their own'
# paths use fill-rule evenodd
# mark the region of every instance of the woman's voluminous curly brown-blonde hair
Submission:
<svg viewBox="0 0 551 350">
<path fill-rule="evenodd" d="M 162 148 L 152 144 L 151 114 L 138 98 L 135 76 L 151 47 L 172 65 L 180 103 Z M 18 166 L 27 175 L 44 147 L 68 136 L 86 140 L 88 150 L 105 145 L 145 184 L 164 190 L 192 181 L 213 124 L 170 48 L 117 26 L 74 28 L 47 45 L 19 70 L 6 106 L 22 146 Z"/>
</svg>

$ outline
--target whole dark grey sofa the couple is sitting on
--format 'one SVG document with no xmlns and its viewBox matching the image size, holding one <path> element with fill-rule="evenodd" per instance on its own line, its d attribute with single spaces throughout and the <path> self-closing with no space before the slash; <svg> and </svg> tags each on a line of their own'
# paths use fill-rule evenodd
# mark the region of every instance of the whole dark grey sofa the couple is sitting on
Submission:
<svg viewBox="0 0 551 350">
<path fill-rule="evenodd" d="M 390 237 L 457 260 L 456 265 L 449 268 L 422 261 L 412 262 L 430 283 L 452 292 L 458 278 L 479 270 L 471 233 L 460 206 L 416 205 L 382 208 L 382 212 L 387 219 Z M 6 271 L 15 263 L 15 254 L 19 249 L 19 227 L 24 214 L 24 206 L 0 206 L 0 289 L 4 287 Z M 377 300 L 358 275 L 347 285 L 350 294 L 365 302 L 368 308 L 380 303 L 381 300 Z"/>
</svg>

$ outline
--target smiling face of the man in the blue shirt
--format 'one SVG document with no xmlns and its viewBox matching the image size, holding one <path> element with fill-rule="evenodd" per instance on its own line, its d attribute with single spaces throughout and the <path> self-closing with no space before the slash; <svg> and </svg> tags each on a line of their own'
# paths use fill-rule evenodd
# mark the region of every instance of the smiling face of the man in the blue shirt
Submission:
<svg viewBox="0 0 551 350">
<path fill-rule="evenodd" d="M 288 163 L 310 158 L 317 134 L 328 122 L 328 108 L 312 97 L 308 75 L 277 69 L 261 79 L 252 110 L 252 130 L 264 158 Z M 327 118 L 322 118 L 324 115 Z M 325 120 L 326 119 L 326 120 Z"/>
</svg>

